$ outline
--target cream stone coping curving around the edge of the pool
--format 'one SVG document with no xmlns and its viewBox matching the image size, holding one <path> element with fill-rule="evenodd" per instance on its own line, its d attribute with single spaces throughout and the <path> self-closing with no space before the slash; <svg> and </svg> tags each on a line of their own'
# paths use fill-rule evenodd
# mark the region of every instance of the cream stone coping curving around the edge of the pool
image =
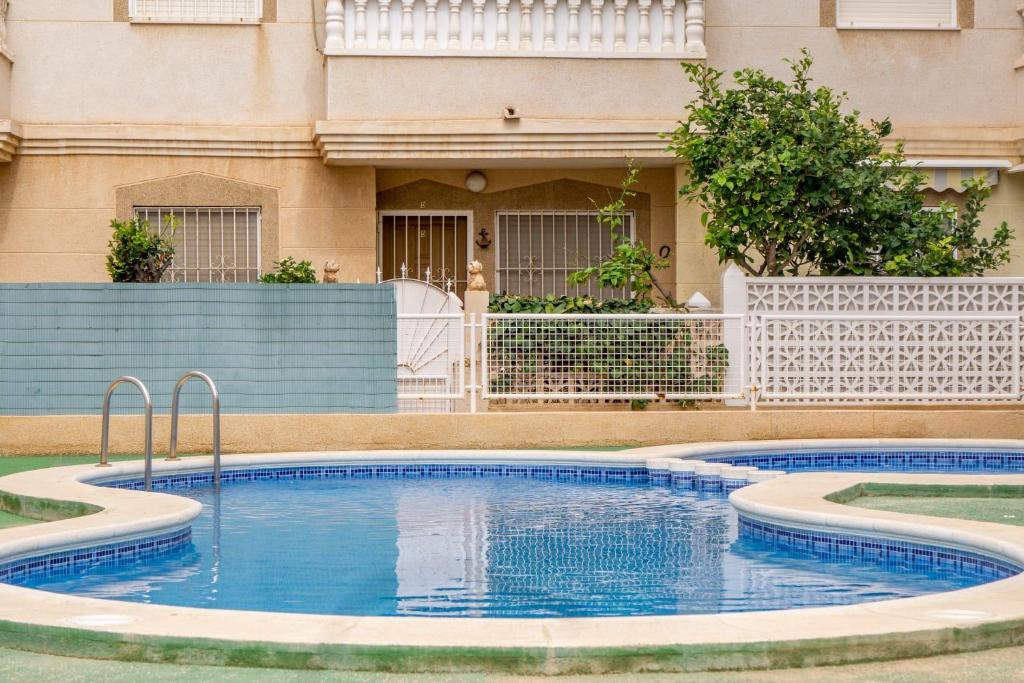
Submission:
<svg viewBox="0 0 1024 683">
<path fill-rule="evenodd" d="M 227 456 L 224 467 L 371 462 L 625 466 L 647 460 L 806 449 L 1024 450 L 1018 440 L 815 439 L 668 445 L 615 453 L 418 451 Z M 155 463 L 155 474 L 206 470 L 210 458 Z M 90 485 L 141 463 L 33 470 L 0 479 L 16 496 L 74 501 L 94 514 L 0 530 L 4 560 L 186 526 L 195 501 Z M 955 545 L 1024 564 L 1024 527 L 852 508 L 824 496 L 864 481 L 1024 484 L 1024 474 L 790 474 L 734 492 L 741 515 L 774 523 Z M 948 593 L 838 607 L 719 614 L 458 618 L 333 616 L 173 607 L 0 585 L 0 640 L 37 651 L 151 661 L 386 671 L 602 673 L 811 666 L 1024 642 L 1024 574 Z"/>
</svg>

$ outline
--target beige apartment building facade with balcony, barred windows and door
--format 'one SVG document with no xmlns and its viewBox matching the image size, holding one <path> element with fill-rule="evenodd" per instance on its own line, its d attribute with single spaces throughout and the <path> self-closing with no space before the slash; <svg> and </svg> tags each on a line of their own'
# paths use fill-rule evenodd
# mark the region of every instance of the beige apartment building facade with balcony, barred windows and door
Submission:
<svg viewBox="0 0 1024 683">
<path fill-rule="evenodd" d="M 679 298 L 720 266 L 665 151 L 680 69 L 814 77 L 891 117 L 929 174 L 1024 225 L 1024 9 L 1013 0 L 0 0 L 0 281 L 101 282 L 110 220 L 180 224 L 170 276 L 284 256 L 572 292 L 594 201 L 643 167 L 630 227 Z M 1021 228 L 1024 229 L 1024 228 Z M 1024 242 L 1006 272 L 1024 274 Z"/>
</svg>

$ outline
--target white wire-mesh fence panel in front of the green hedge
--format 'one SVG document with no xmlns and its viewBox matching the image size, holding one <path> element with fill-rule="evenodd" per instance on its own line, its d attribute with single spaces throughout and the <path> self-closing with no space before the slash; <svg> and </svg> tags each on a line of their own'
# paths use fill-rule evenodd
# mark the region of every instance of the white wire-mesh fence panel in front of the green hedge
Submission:
<svg viewBox="0 0 1024 683">
<path fill-rule="evenodd" d="M 726 378 L 730 326 L 739 330 L 742 317 L 488 313 L 483 316 L 483 397 L 738 396 L 742 381 Z"/>
</svg>

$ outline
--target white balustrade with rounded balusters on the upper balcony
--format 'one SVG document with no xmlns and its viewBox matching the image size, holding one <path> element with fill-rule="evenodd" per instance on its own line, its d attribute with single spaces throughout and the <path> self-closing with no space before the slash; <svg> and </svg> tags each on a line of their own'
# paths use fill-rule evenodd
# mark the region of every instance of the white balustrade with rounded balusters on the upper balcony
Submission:
<svg viewBox="0 0 1024 683">
<path fill-rule="evenodd" d="M 329 55 L 707 55 L 705 0 L 323 1 Z"/>
</svg>

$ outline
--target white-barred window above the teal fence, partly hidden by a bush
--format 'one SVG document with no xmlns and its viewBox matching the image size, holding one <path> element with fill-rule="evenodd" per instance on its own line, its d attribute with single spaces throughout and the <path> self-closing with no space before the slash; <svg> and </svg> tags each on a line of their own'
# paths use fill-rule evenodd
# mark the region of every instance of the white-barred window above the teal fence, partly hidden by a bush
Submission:
<svg viewBox="0 0 1024 683">
<path fill-rule="evenodd" d="M 174 261 L 164 273 L 165 282 L 259 280 L 259 207 L 135 207 L 135 215 L 174 244 Z"/>
</svg>

